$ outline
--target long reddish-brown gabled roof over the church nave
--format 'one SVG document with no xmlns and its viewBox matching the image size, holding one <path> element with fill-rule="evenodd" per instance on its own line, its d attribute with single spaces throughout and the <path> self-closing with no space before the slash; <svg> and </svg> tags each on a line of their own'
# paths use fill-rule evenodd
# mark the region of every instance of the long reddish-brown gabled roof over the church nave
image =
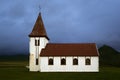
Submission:
<svg viewBox="0 0 120 80">
<path fill-rule="evenodd" d="M 95 43 L 48 43 L 40 56 L 98 56 L 98 50 Z"/>
</svg>

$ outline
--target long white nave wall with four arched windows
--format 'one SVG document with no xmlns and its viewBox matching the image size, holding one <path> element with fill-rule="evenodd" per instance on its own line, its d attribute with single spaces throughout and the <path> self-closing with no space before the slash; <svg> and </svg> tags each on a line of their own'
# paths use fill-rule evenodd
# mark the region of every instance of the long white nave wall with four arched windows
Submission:
<svg viewBox="0 0 120 80">
<path fill-rule="evenodd" d="M 98 72 L 98 57 L 90 57 L 91 65 L 85 65 L 86 57 L 78 57 L 78 65 L 73 65 L 73 57 L 66 57 L 66 65 L 61 65 L 61 57 L 54 57 L 54 64 L 48 65 L 48 57 L 40 58 L 41 72 Z"/>
</svg>

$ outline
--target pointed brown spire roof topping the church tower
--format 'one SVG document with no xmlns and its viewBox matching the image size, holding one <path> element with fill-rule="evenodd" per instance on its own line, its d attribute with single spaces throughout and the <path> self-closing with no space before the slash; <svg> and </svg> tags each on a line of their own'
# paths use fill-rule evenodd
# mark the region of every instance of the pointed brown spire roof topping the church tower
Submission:
<svg viewBox="0 0 120 80">
<path fill-rule="evenodd" d="M 49 40 L 42 21 L 41 13 L 39 13 L 34 28 L 29 34 L 29 37 L 46 37 Z"/>
</svg>

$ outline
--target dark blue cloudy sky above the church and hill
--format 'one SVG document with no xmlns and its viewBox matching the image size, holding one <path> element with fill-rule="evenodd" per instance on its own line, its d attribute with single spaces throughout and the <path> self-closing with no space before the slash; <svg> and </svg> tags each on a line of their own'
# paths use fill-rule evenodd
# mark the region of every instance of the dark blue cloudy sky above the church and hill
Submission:
<svg viewBox="0 0 120 80">
<path fill-rule="evenodd" d="M 120 0 L 0 0 L 0 54 L 28 54 L 39 5 L 50 42 L 120 50 Z"/>
</svg>

